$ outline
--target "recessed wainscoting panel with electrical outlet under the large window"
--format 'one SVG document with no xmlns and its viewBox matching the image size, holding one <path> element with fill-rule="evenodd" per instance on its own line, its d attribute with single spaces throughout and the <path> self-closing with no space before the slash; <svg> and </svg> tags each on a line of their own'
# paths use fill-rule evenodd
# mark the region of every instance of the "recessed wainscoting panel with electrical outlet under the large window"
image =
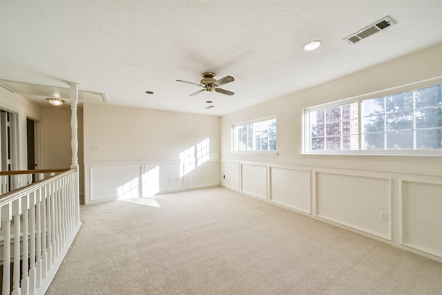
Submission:
<svg viewBox="0 0 442 295">
<path fill-rule="evenodd" d="M 317 172 L 316 215 L 390 239 L 390 179 Z"/>
</svg>

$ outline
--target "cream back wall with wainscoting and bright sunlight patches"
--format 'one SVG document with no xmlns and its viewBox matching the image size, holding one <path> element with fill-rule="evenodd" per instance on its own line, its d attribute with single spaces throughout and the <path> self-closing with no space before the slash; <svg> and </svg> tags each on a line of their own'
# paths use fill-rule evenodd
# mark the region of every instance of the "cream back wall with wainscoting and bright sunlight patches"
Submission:
<svg viewBox="0 0 442 295">
<path fill-rule="evenodd" d="M 84 106 L 86 203 L 219 185 L 219 158 L 220 117 Z"/>
</svg>

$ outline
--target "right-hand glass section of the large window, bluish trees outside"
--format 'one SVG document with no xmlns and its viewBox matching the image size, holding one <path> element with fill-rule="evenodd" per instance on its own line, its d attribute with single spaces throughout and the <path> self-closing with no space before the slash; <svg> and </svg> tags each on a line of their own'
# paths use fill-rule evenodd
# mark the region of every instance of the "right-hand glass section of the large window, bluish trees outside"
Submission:
<svg viewBox="0 0 442 295">
<path fill-rule="evenodd" d="M 363 100 L 363 149 L 441 149 L 441 85 Z"/>
</svg>

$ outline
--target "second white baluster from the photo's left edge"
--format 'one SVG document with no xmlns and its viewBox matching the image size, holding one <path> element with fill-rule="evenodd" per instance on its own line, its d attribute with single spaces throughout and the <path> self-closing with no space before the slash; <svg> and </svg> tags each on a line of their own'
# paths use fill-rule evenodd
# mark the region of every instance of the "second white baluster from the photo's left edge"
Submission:
<svg viewBox="0 0 442 295">
<path fill-rule="evenodd" d="M 21 199 L 12 202 L 14 219 L 14 273 L 12 276 L 12 295 L 19 295 L 20 289 L 20 214 Z"/>
</svg>

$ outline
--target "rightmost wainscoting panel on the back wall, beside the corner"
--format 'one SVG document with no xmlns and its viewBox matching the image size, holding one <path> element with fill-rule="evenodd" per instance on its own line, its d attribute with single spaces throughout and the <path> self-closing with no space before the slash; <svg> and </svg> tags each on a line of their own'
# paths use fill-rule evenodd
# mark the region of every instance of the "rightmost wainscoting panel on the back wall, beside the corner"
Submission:
<svg viewBox="0 0 442 295">
<path fill-rule="evenodd" d="M 204 162 L 187 174 L 187 187 L 210 187 L 220 184 L 218 162 Z"/>
</svg>

